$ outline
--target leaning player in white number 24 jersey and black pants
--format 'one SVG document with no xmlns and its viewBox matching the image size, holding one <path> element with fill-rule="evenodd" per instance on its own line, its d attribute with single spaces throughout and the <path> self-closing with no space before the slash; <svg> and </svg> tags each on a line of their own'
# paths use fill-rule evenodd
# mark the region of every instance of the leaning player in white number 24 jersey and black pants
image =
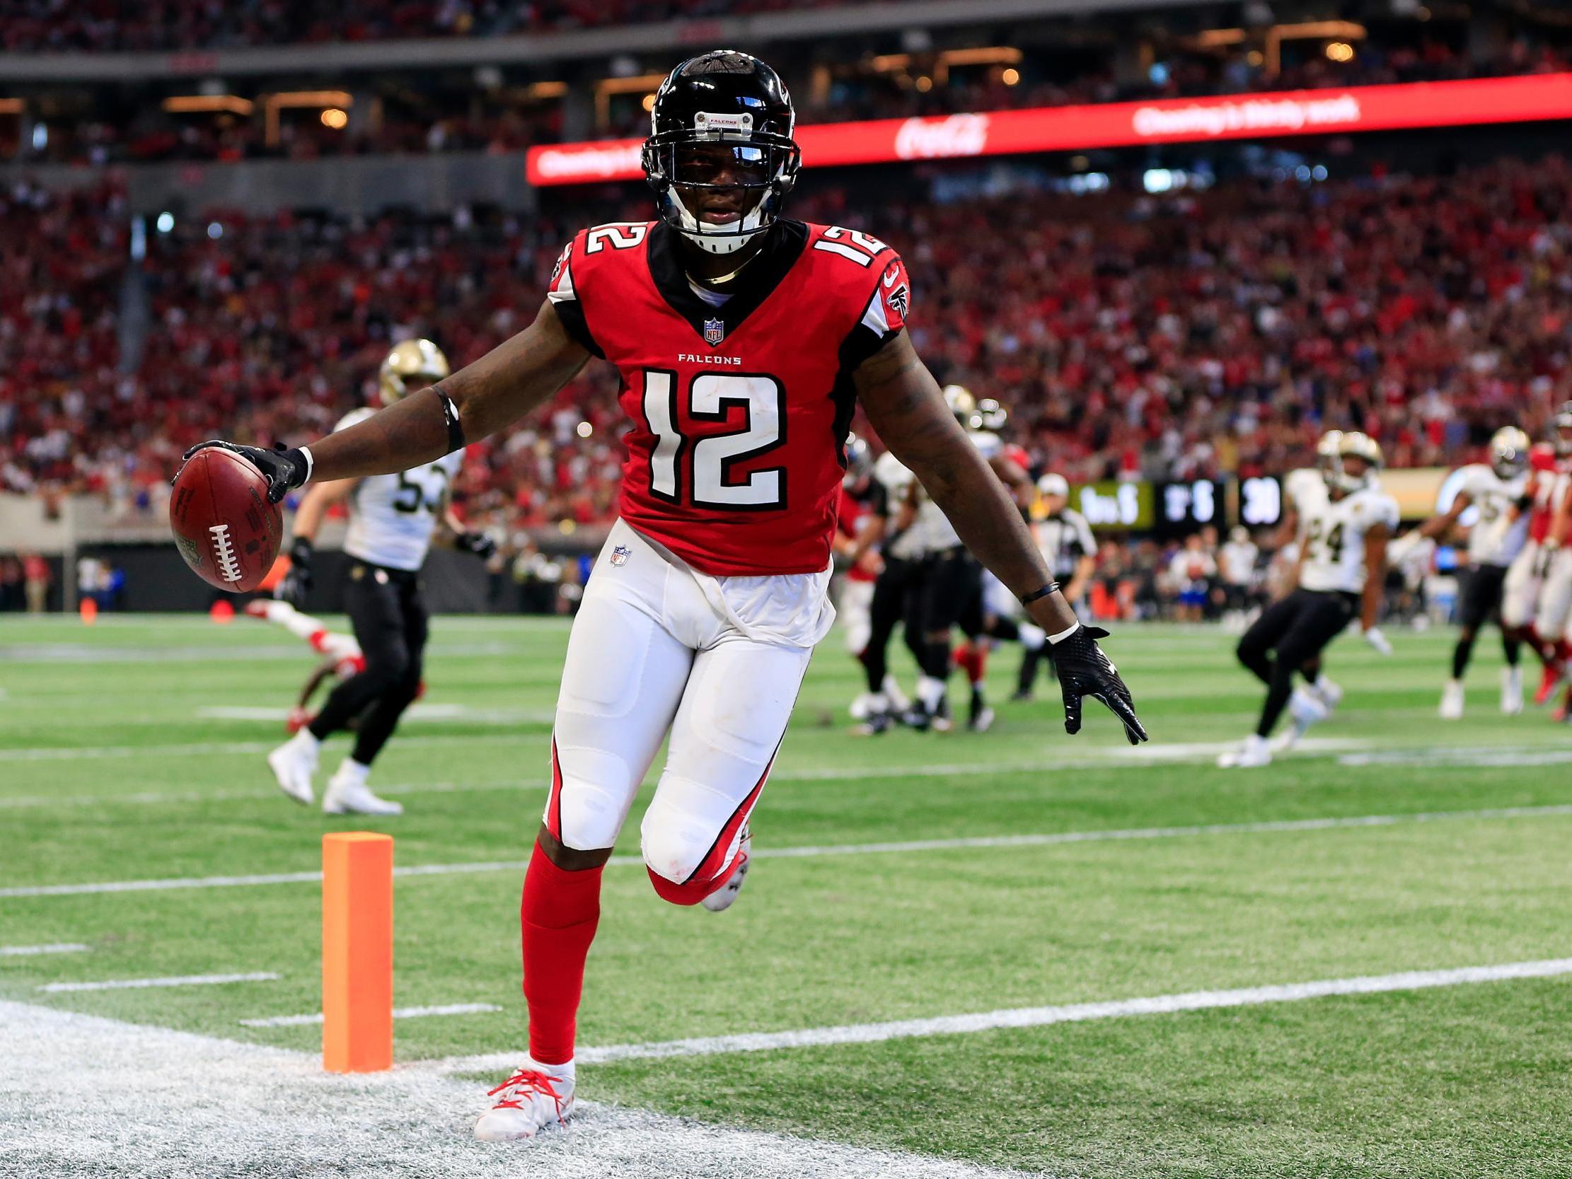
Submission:
<svg viewBox="0 0 1572 1179">
<path fill-rule="evenodd" d="M 1269 739 L 1291 706 L 1295 733 L 1325 717 L 1308 692 L 1294 692 L 1294 674 L 1358 616 L 1371 646 L 1382 649 L 1376 615 L 1387 575 L 1387 541 L 1398 527 L 1398 503 L 1376 483 L 1380 446 L 1363 434 L 1338 439 L 1338 465 L 1327 475 L 1327 498 L 1302 511 L 1297 588 L 1262 612 L 1239 640 L 1239 662 L 1267 685 L 1261 723 L 1243 748 L 1225 753 L 1220 766 L 1265 766 Z"/>
</svg>

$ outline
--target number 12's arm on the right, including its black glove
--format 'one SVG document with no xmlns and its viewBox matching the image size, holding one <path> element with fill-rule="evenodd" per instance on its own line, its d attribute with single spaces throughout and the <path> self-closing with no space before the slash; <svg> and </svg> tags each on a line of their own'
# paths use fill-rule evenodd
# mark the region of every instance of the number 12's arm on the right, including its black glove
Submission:
<svg viewBox="0 0 1572 1179">
<path fill-rule="evenodd" d="M 1108 632 L 1080 626 L 1053 583 L 1036 541 L 1005 484 L 973 446 L 945 402 L 905 332 L 858 365 L 857 396 L 868 421 L 956 527 L 960 539 L 1049 632 L 1064 689 L 1064 728 L 1082 725 L 1082 698 L 1107 704 L 1124 722 L 1130 744 L 1146 740 L 1130 690 L 1097 648 Z"/>
</svg>

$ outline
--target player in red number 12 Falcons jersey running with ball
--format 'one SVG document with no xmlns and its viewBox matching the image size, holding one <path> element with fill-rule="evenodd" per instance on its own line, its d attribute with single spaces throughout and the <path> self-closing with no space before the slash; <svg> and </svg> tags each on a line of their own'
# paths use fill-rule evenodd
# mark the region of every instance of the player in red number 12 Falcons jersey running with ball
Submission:
<svg viewBox="0 0 1572 1179">
<path fill-rule="evenodd" d="M 659 219 L 563 250 L 534 322 L 473 365 L 310 446 L 245 454 L 274 500 L 448 454 L 545 404 L 591 357 L 634 421 L 621 519 L 596 560 L 563 668 L 552 788 L 523 882 L 530 1056 L 492 1091 L 486 1140 L 528 1138 L 574 1104 L 574 1028 L 601 872 L 670 734 L 641 838 L 656 891 L 725 909 L 825 601 L 843 443 L 860 401 L 960 539 L 1055 643 L 1064 728 L 1082 700 L 1146 739 L 1130 693 L 1042 563 L 1020 512 L 912 347 L 905 270 L 876 237 L 783 219 L 794 113 L 758 58 L 718 50 L 656 94 L 645 173 Z"/>
</svg>

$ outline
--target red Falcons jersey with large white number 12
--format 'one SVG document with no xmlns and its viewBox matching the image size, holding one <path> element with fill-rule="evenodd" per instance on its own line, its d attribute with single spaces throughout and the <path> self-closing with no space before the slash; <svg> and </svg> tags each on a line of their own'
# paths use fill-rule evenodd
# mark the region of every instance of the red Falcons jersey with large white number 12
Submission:
<svg viewBox="0 0 1572 1179">
<path fill-rule="evenodd" d="M 894 250 L 778 222 L 717 307 L 668 225 L 601 225 L 563 250 L 547 297 L 623 377 L 630 527 L 714 575 L 830 564 L 852 371 L 905 324 Z"/>
</svg>

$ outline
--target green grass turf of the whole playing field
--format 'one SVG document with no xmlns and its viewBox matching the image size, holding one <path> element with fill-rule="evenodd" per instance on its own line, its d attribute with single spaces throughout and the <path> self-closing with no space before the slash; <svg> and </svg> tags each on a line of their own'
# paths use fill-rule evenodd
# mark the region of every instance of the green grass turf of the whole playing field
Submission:
<svg viewBox="0 0 1572 1179">
<path fill-rule="evenodd" d="M 311 665 L 283 632 L 0 621 L 0 949 L 90 948 L 0 954 L 0 1000 L 314 1050 L 316 1027 L 241 1023 L 319 1009 L 310 880 L 17 890 L 311 872 L 324 830 L 369 827 L 396 836 L 401 866 L 503 861 L 398 880 L 396 1005 L 501 1008 L 401 1020 L 399 1060 L 522 1056 L 517 865 L 545 797 L 566 634 L 439 619 L 423 714 L 373 778 L 406 814 L 366 824 L 272 784 L 263 755 L 281 726 L 266 712 Z M 753 822 L 764 854 L 817 852 L 761 855 L 718 916 L 660 902 L 641 868 L 615 861 L 580 1045 L 1572 957 L 1572 731 L 1533 707 L 1500 715 L 1489 640 L 1468 717 L 1438 722 L 1449 641 L 1399 634 L 1382 660 L 1342 640 L 1328 667 L 1347 695 L 1309 748 L 1220 770 L 1220 742 L 1251 728 L 1261 696 L 1221 630 L 1126 627 L 1108 643 L 1152 734 L 1141 750 L 1100 709 L 1066 737 L 1047 687 L 1000 704 L 989 734 L 855 737 L 855 665 L 832 635 Z M 1017 657 L 994 659 L 1000 700 Z M 346 748 L 325 750 L 319 786 Z M 1298 822 L 1364 816 L 1393 821 Z M 1195 827 L 1210 830 L 1152 830 Z M 1094 835 L 1108 832 L 1129 838 Z M 1056 833 L 1094 838 L 1005 839 Z M 948 846 L 830 854 L 907 841 Z M 247 971 L 278 978 L 39 989 Z M 1564 1176 L 1569 979 L 635 1055 L 583 1064 L 580 1096 L 1052 1174 Z M 498 1078 L 475 1074 L 476 1111 L 479 1082 Z"/>
</svg>

